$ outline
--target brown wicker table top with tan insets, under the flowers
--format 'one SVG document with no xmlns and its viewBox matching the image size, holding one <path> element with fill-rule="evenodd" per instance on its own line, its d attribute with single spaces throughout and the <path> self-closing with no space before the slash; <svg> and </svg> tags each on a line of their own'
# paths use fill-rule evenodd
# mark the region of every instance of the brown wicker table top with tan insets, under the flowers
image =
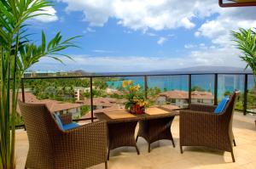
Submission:
<svg viewBox="0 0 256 169">
<path fill-rule="evenodd" d="M 129 122 L 129 121 L 147 121 L 147 120 L 153 120 L 153 119 L 160 119 L 160 118 L 167 118 L 167 117 L 173 117 L 175 115 L 179 115 L 179 113 L 175 110 L 169 110 L 163 107 L 154 107 L 154 110 L 165 110 L 168 113 L 165 114 L 159 114 L 159 115 L 148 115 L 147 113 L 143 114 L 143 115 L 133 115 L 132 117 L 124 117 L 124 118 L 110 118 L 108 116 L 108 112 L 99 112 L 99 113 L 95 113 L 94 115 L 96 116 L 97 119 L 102 120 L 102 121 L 107 121 L 108 123 L 118 123 L 118 122 Z M 148 108 L 150 109 L 150 108 Z M 148 110 L 147 109 L 147 110 Z M 147 112 L 146 110 L 146 112 Z M 119 111 L 119 113 L 121 114 L 121 110 L 117 110 Z M 128 110 L 122 110 L 124 112 L 124 114 L 126 115 L 126 113 L 129 113 Z"/>
</svg>

